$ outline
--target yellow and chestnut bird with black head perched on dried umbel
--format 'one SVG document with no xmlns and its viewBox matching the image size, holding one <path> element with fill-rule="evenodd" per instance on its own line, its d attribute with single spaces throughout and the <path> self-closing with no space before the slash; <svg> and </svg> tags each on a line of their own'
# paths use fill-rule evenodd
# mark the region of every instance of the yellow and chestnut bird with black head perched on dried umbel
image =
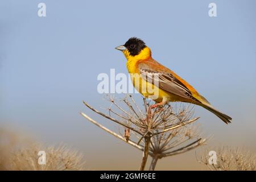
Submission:
<svg viewBox="0 0 256 182">
<path fill-rule="evenodd" d="M 164 65 L 154 60 L 151 56 L 151 49 L 146 46 L 143 40 L 133 37 L 122 46 L 115 47 L 115 49 L 122 51 L 123 55 L 125 55 L 127 71 L 135 89 L 143 97 L 151 98 L 155 101 L 155 104 L 151 105 L 150 109 L 163 106 L 168 104 L 168 102 L 187 102 L 204 107 L 217 115 L 226 124 L 231 123 L 232 118 L 215 109 L 205 97 L 201 96 L 195 88 L 176 75 L 171 69 L 164 67 Z M 139 82 L 135 81 L 136 76 L 139 76 Z M 158 84 L 152 81 L 154 78 L 156 78 Z M 142 92 L 143 86 L 146 88 L 150 88 L 150 86 L 154 89 L 157 88 L 157 97 L 151 93 L 152 90 L 150 89 Z"/>
</svg>

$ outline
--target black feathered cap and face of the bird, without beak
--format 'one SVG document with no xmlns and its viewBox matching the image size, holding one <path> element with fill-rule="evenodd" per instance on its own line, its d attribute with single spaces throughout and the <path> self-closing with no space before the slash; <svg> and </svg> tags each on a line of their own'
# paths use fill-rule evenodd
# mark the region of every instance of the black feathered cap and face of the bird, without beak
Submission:
<svg viewBox="0 0 256 182">
<path fill-rule="evenodd" d="M 131 56 L 138 55 L 146 47 L 145 43 L 138 38 L 130 38 L 123 46 L 128 49 Z"/>
</svg>

